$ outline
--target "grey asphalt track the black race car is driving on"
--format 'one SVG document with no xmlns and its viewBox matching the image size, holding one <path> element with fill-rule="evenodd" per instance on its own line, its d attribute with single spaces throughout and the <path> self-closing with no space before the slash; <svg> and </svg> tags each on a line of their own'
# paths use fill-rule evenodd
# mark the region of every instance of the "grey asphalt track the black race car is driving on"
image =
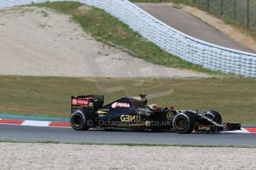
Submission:
<svg viewBox="0 0 256 170">
<path fill-rule="evenodd" d="M 134 132 L 71 128 L 0 125 L 0 140 L 60 143 L 158 143 L 168 145 L 254 146 L 256 134 L 177 134 L 174 132 Z"/>
</svg>

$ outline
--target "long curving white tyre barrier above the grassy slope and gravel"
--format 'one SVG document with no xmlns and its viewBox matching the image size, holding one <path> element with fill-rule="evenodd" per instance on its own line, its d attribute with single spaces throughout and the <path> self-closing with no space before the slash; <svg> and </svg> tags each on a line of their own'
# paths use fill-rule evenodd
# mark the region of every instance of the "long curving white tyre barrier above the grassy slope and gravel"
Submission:
<svg viewBox="0 0 256 170">
<path fill-rule="evenodd" d="M 47 0 L 1 0 L 0 9 L 45 1 Z M 181 33 L 128 0 L 77 1 L 102 8 L 128 24 L 148 41 L 154 42 L 163 50 L 185 61 L 220 72 L 256 77 L 256 55 L 253 53 L 220 47 Z"/>
</svg>

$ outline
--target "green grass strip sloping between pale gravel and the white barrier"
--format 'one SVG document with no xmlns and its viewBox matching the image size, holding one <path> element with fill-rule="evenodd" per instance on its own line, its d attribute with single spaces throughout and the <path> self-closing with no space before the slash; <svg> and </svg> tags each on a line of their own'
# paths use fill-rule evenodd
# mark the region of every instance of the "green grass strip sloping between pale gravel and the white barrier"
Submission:
<svg viewBox="0 0 256 170">
<path fill-rule="evenodd" d="M 84 12 L 79 7 L 85 6 L 79 2 L 48 2 L 44 4 L 31 4 L 36 7 L 47 7 L 59 13 L 71 16 L 72 20 L 80 24 L 86 33 L 90 33 L 98 41 L 105 42 L 112 47 L 128 52 L 130 55 L 141 58 L 145 61 L 160 64 L 165 67 L 177 67 L 182 69 L 193 69 L 199 72 L 221 74 L 210 69 L 205 69 L 196 64 L 183 61 L 182 59 L 169 54 L 142 38 L 137 32 L 131 30 L 128 25 L 111 16 L 104 10 L 95 7 L 88 7 Z"/>
</svg>

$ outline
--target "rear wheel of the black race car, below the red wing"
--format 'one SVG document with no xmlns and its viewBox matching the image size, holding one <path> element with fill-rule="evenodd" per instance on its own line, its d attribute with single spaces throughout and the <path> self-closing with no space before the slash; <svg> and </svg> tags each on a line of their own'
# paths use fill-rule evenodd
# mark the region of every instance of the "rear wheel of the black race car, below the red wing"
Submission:
<svg viewBox="0 0 256 170">
<path fill-rule="evenodd" d="M 85 131 L 93 126 L 93 120 L 90 118 L 90 113 L 82 109 L 73 110 L 70 115 L 70 126 L 76 131 Z"/>
</svg>

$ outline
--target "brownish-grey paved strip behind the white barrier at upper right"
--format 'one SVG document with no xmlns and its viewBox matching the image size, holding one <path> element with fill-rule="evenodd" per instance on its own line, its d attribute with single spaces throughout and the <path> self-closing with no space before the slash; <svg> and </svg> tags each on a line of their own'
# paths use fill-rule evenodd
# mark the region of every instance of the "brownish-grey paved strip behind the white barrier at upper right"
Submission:
<svg viewBox="0 0 256 170">
<path fill-rule="evenodd" d="M 165 24 L 174 27 L 176 30 L 179 30 L 182 33 L 191 35 L 194 38 L 200 40 L 217 44 L 219 46 L 232 48 L 235 50 L 242 50 L 246 52 L 253 52 L 247 47 L 244 47 L 242 44 L 239 44 L 237 41 L 232 40 L 228 36 L 220 33 L 220 31 L 215 30 L 213 27 L 208 24 L 200 21 L 200 19 L 195 18 L 194 16 L 185 13 L 182 10 L 171 7 L 168 4 L 160 3 L 135 3 L 138 7 L 141 7 L 142 10 L 150 13 L 155 18 L 158 18 L 160 21 L 163 21 Z"/>
</svg>

